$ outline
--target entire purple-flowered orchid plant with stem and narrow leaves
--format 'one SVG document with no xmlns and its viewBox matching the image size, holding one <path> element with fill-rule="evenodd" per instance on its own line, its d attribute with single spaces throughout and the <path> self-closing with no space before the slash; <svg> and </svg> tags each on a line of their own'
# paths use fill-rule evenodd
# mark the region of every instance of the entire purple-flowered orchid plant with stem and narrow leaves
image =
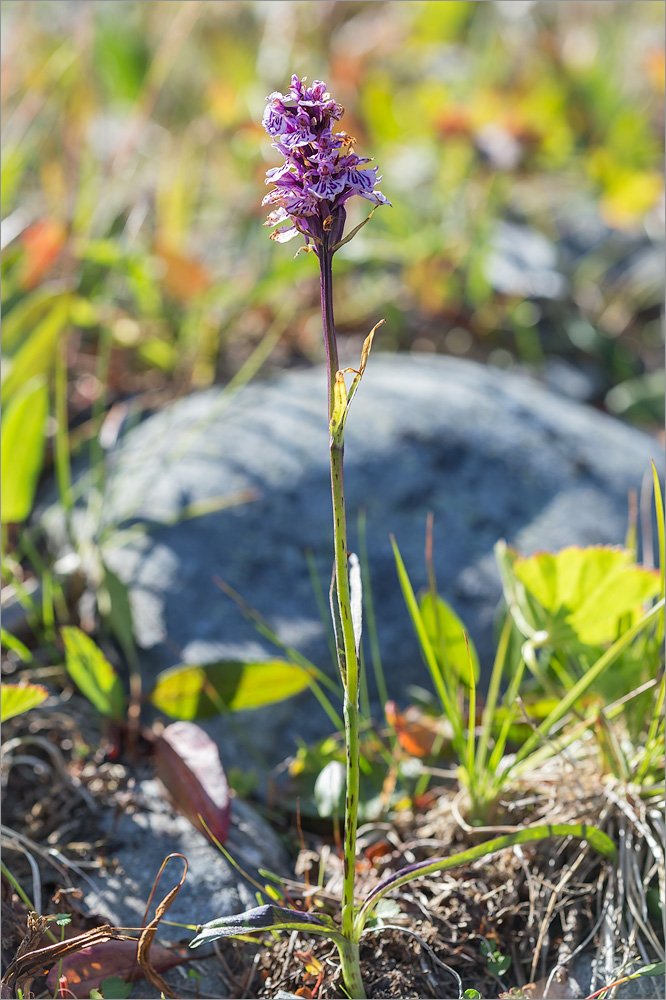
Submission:
<svg viewBox="0 0 666 1000">
<path fill-rule="evenodd" d="M 435 872 L 487 857 L 515 844 L 547 837 L 577 837 L 605 857 L 615 856 L 612 841 L 601 831 L 584 824 L 542 824 L 517 833 L 497 837 L 454 857 L 436 858 L 412 864 L 376 885 L 362 901 L 355 893 L 356 830 L 359 806 L 359 664 L 362 628 L 361 574 L 358 558 L 347 551 L 346 508 L 343 479 L 344 430 L 350 404 L 365 371 L 375 330 L 363 345 L 358 369 L 340 370 L 333 319 L 334 254 L 351 240 L 371 218 L 374 210 L 348 235 L 344 234 L 346 203 L 354 195 L 379 205 L 390 205 L 377 189 L 381 180 L 377 167 L 368 167 L 368 157 L 354 152 L 355 140 L 346 132 L 334 132 L 334 124 L 344 109 L 315 80 L 291 79 L 288 94 L 273 93 L 267 98 L 263 124 L 284 163 L 269 170 L 266 182 L 272 190 L 263 204 L 274 206 L 266 225 L 277 227 L 271 238 L 279 243 L 304 238 L 300 250 L 314 253 L 319 262 L 321 311 L 328 374 L 328 422 L 333 501 L 335 563 L 331 584 L 331 613 L 338 666 L 344 689 L 346 740 L 346 802 L 344 832 L 344 877 L 341 922 L 321 912 L 266 904 L 237 916 L 213 920 L 198 928 L 191 947 L 222 937 L 245 937 L 267 931 L 300 931 L 328 938 L 338 949 L 342 978 L 350 997 L 366 996 L 360 967 L 360 942 L 377 903 L 393 889 Z M 299 250 L 299 252 L 300 252 Z M 349 389 L 345 375 L 353 374 Z M 274 895 L 268 892 L 267 895 Z"/>
</svg>

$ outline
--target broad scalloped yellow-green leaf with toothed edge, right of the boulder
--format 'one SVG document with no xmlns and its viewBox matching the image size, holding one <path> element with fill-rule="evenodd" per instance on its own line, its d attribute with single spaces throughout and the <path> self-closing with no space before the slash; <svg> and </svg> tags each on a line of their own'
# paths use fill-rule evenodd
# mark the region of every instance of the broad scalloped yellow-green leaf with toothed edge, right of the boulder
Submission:
<svg viewBox="0 0 666 1000">
<path fill-rule="evenodd" d="M 513 572 L 538 601 L 537 625 L 554 645 L 612 642 L 619 620 L 640 613 L 659 593 L 659 574 L 637 566 L 631 552 L 620 548 L 540 552 L 516 559 Z"/>
</svg>

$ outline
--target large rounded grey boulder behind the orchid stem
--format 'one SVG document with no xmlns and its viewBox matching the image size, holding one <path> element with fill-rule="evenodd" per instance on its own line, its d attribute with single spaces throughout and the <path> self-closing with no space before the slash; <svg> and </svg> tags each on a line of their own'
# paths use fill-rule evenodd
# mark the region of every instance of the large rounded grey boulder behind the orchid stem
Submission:
<svg viewBox="0 0 666 1000">
<path fill-rule="evenodd" d="M 248 488 L 256 494 L 227 510 L 153 525 L 109 552 L 112 568 L 131 587 L 147 678 L 181 659 L 274 653 L 215 576 L 265 615 L 283 641 L 334 676 L 304 554 L 314 553 L 327 591 L 325 384 L 317 368 L 251 384 L 230 405 L 219 390 L 193 395 L 129 432 L 112 455 L 104 504 L 109 525 L 168 521 L 193 502 Z M 391 697 L 405 699 L 410 684 L 429 686 L 391 533 L 419 588 L 426 579 L 426 515 L 434 512 L 439 588 L 466 623 L 487 673 L 500 596 L 497 539 L 526 553 L 622 543 L 628 491 L 640 487 L 652 457 L 661 467 L 647 435 L 524 376 L 452 358 L 373 355 L 347 425 L 346 489 L 354 549 L 357 514 L 367 510 Z M 207 726 L 227 765 L 238 733 L 275 762 L 293 751 L 296 737 L 316 738 L 330 728 L 309 694 L 231 723 Z"/>
</svg>

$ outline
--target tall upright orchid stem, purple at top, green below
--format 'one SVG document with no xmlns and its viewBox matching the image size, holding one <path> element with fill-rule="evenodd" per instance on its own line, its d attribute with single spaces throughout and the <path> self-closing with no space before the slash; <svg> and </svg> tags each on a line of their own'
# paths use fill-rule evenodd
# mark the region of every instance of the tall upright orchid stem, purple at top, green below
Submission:
<svg viewBox="0 0 666 1000">
<path fill-rule="evenodd" d="M 333 400 L 336 374 L 338 371 L 338 349 L 335 338 L 335 323 L 333 320 L 333 271 L 332 253 L 323 245 L 319 251 L 321 274 L 321 307 L 326 343 L 326 362 L 328 372 L 328 415 L 329 421 L 333 415 Z M 331 492 L 333 497 L 333 539 L 335 547 L 335 580 L 340 613 L 340 625 L 344 646 L 344 663 L 340 663 L 345 698 L 345 742 L 347 749 L 346 778 L 347 796 L 345 801 L 345 844 L 344 844 L 344 879 L 342 887 L 342 933 L 351 942 L 354 933 L 354 874 L 356 864 L 356 827 L 358 821 L 359 796 L 359 736 L 358 736 L 358 657 L 356 640 L 351 615 L 351 600 L 349 591 L 349 575 L 347 572 L 347 517 L 345 509 L 345 492 L 343 477 L 344 444 L 342 438 L 334 439 L 331 435 Z M 339 658 L 340 657 L 340 654 Z M 351 947 L 351 945 L 350 945 Z M 360 971 L 358 970 L 358 954 L 354 962 L 353 983 L 347 980 L 345 984 L 351 996 L 363 997 Z M 355 969 L 353 968 L 355 966 Z M 344 968 L 344 964 L 343 964 Z M 358 972 L 358 981 L 356 973 Z M 352 975 L 352 972 L 350 972 Z M 359 992 L 359 989 L 361 992 Z"/>
</svg>

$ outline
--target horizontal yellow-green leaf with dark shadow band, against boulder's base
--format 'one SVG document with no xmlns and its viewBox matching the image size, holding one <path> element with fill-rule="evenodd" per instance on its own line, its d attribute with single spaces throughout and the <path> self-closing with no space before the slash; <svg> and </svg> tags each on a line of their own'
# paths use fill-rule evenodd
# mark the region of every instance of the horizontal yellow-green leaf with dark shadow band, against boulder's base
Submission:
<svg viewBox="0 0 666 1000">
<path fill-rule="evenodd" d="M 218 712 L 272 705 L 299 694 L 308 685 L 307 672 L 286 660 L 220 660 L 163 670 L 150 700 L 174 719 L 208 719 Z"/>
</svg>

